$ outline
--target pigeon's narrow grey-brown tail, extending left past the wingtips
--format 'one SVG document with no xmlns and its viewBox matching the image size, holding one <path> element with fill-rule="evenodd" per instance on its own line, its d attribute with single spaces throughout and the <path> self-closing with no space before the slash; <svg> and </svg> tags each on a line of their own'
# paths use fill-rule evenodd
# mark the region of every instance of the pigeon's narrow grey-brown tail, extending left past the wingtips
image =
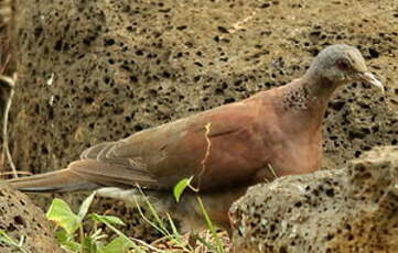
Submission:
<svg viewBox="0 0 398 253">
<path fill-rule="evenodd" d="M 85 180 L 69 168 L 20 177 L 8 182 L 14 189 L 24 193 L 66 193 L 97 189 L 99 185 Z"/>
</svg>

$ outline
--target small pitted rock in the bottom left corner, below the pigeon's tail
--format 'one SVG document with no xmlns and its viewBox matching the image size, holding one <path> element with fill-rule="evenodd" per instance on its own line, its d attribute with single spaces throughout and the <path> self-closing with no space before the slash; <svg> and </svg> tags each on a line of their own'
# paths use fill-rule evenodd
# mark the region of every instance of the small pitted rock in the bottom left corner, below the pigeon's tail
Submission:
<svg viewBox="0 0 398 253">
<path fill-rule="evenodd" d="M 0 182 L 0 230 L 17 243 L 23 238 L 22 248 L 31 253 L 63 253 L 53 238 L 50 221 L 23 194 Z M 20 252 L 0 240 L 0 252 Z"/>
</svg>

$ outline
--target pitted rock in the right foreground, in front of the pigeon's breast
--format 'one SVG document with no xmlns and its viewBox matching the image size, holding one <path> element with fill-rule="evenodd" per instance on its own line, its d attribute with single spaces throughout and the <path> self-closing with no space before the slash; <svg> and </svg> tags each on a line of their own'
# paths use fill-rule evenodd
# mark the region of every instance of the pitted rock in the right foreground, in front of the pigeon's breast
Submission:
<svg viewBox="0 0 398 253">
<path fill-rule="evenodd" d="M 236 252 L 398 252 L 398 147 L 254 186 L 230 216 Z"/>
</svg>

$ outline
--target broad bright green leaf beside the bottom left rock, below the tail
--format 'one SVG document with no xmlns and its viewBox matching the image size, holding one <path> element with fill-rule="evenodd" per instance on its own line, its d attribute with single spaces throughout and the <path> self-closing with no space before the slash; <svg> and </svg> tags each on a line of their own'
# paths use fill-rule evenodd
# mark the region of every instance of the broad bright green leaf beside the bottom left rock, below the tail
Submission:
<svg viewBox="0 0 398 253">
<path fill-rule="evenodd" d="M 68 234 L 73 234 L 82 223 L 80 218 L 71 210 L 69 206 L 58 198 L 53 199 L 46 217 L 63 228 Z"/>
</svg>

